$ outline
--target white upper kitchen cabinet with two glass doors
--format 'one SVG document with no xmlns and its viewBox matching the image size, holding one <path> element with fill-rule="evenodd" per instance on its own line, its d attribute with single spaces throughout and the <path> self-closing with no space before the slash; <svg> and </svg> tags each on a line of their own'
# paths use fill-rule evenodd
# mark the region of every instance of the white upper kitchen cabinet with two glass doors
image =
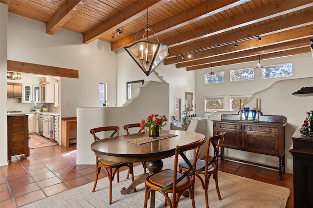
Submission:
<svg viewBox="0 0 313 208">
<path fill-rule="evenodd" d="M 22 103 L 40 103 L 41 85 L 23 84 Z"/>
</svg>

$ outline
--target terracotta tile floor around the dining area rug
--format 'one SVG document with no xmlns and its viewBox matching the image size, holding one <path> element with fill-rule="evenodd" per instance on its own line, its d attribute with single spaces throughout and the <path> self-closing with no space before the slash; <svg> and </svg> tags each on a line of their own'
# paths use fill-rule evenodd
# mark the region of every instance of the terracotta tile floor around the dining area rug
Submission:
<svg viewBox="0 0 313 208">
<path fill-rule="evenodd" d="M 141 164 L 141 163 L 140 163 Z M 231 161 L 221 161 L 219 170 L 291 189 L 287 208 L 293 207 L 293 175 Z M 139 165 L 134 164 L 134 165 Z M 0 167 L 0 207 L 15 208 L 94 181 L 95 166 L 76 165 L 76 145 L 30 149 L 30 156 L 13 156 Z M 102 172 L 101 177 L 105 177 Z"/>
</svg>

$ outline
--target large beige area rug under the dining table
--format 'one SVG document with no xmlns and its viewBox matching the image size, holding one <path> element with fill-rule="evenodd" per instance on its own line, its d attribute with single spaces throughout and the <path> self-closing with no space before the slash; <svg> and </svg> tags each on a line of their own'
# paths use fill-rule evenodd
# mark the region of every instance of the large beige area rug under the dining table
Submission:
<svg viewBox="0 0 313 208">
<path fill-rule="evenodd" d="M 164 168 L 173 167 L 174 160 L 163 160 Z M 142 166 L 134 167 L 134 175 L 143 172 Z M 144 184 L 136 187 L 126 195 L 122 195 L 122 187 L 128 187 L 131 179 L 125 180 L 127 171 L 120 172 L 120 182 L 113 181 L 112 205 L 109 205 L 109 181 L 107 178 L 98 180 L 95 192 L 91 192 L 93 182 L 76 187 L 59 194 L 23 206 L 23 208 L 141 208 L 144 204 Z M 209 184 L 210 208 L 285 208 L 290 194 L 289 188 L 279 187 L 260 181 L 244 178 L 219 171 L 219 187 L 222 201 L 219 200 L 214 180 Z M 197 208 L 205 208 L 205 196 L 201 183 L 196 180 L 195 201 Z M 148 202 L 150 207 L 150 202 Z M 156 192 L 156 208 L 164 208 L 164 196 Z M 190 198 L 181 197 L 179 208 L 190 208 Z"/>
</svg>

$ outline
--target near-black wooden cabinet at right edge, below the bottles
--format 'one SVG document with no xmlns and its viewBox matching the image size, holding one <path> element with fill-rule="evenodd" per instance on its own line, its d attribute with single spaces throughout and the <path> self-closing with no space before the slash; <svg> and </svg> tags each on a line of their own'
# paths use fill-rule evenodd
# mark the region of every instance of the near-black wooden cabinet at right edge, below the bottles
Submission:
<svg viewBox="0 0 313 208">
<path fill-rule="evenodd" d="M 292 135 L 293 207 L 313 207 L 313 137 L 296 130 Z"/>
</svg>

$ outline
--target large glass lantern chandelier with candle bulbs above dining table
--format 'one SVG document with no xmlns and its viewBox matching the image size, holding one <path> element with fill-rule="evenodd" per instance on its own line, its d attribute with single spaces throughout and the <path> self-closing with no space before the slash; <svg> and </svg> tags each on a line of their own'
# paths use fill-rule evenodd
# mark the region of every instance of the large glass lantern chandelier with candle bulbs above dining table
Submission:
<svg viewBox="0 0 313 208">
<path fill-rule="evenodd" d="M 136 41 L 136 36 L 140 30 L 144 30 L 144 34 L 140 41 Z M 153 33 L 153 41 L 149 42 L 148 32 Z M 147 34 L 147 40 L 144 41 L 144 37 Z M 157 42 L 156 42 L 157 39 Z M 160 64 L 168 55 L 167 45 L 163 45 L 158 41 L 156 33 L 148 25 L 148 1 L 147 1 L 147 24 L 146 28 L 141 28 L 136 32 L 134 43 L 130 46 L 125 46 L 124 49 L 127 53 L 134 59 L 141 70 L 149 76 L 153 70 L 156 69 L 158 64 Z"/>
</svg>

